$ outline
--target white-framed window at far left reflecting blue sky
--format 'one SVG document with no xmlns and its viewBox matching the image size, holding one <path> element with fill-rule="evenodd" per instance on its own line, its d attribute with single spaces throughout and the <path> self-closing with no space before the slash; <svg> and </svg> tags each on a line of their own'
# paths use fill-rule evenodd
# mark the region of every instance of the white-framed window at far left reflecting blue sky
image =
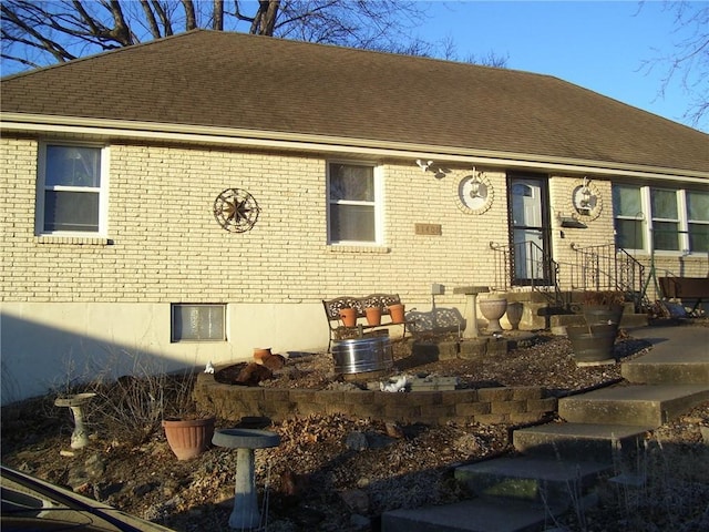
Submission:
<svg viewBox="0 0 709 532">
<path fill-rule="evenodd" d="M 38 234 L 104 234 L 104 147 L 42 144 L 38 182 Z"/>
</svg>

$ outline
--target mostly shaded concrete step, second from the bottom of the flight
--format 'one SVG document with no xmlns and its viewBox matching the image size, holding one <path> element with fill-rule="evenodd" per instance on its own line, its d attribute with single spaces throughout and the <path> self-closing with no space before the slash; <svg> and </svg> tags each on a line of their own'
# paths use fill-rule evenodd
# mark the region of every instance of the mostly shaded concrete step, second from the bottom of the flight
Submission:
<svg viewBox="0 0 709 532">
<path fill-rule="evenodd" d="M 612 471 L 606 463 L 561 460 L 554 457 L 505 457 L 461 466 L 455 480 L 477 497 L 506 499 L 569 508 L 586 495 L 598 475 Z"/>
</svg>

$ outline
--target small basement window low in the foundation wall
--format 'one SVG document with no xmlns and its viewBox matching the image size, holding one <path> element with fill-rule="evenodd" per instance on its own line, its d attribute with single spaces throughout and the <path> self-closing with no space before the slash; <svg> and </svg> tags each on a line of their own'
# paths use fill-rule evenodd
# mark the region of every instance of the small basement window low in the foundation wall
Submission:
<svg viewBox="0 0 709 532">
<path fill-rule="evenodd" d="M 172 341 L 225 341 L 226 306 L 172 305 Z"/>
</svg>

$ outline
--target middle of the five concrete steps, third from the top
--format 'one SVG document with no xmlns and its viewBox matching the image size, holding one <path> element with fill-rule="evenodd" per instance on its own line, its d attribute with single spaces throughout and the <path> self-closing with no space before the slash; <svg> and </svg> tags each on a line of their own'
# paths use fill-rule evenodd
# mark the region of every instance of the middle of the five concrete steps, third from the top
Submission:
<svg viewBox="0 0 709 532">
<path fill-rule="evenodd" d="M 514 448 L 527 456 L 606 462 L 618 453 L 631 453 L 653 429 L 650 426 L 547 423 L 516 429 L 512 439 Z"/>
</svg>

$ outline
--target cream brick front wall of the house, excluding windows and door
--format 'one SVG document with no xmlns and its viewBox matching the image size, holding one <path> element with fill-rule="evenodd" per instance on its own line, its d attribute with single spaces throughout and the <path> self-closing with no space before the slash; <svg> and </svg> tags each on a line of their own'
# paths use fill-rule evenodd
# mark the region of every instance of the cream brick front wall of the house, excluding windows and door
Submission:
<svg viewBox="0 0 709 532">
<path fill-rule="evenodd" d="M 323 157 L 127 143 L 110 146 L 107 238 L 38 237 L 37 153 L 33 140 L 0 140 L 3 365 L 17 359 L 42 366 L 48 357 L 79 352 L 83 337 L 110 342 L 113 350 L 198 364 L 245 358 L 254 347 L 323 346 L 320 299 L 393 291 L 409 309 L 425 311 L 431 284 L 440 283 L 445 294 L 436 305 L 462 311 L 464 298 L 453 288 L 492 285 L 490 243 L 507 243 L 504 168 L 486 168 L 494 202 L 477 215 L 456 203 L 456 185 L 470 168 L 436 178 L 413 161 L 384 161 L 384 244 L 341 247 L 326 242 Z M 571 214 L 576 182 L 549 180 L 559 262 L 572 259 L 573 242 L 613 242 L 610 183 L 603 181 L 594 182 L 604 200 L 599 217 L 586 229 L 564 229 L 562 237 L 555 216 Z M 230 187 L 248 191 L 260 206 L 249 232 L 228 233 L 214 219 L 215 197 Z M 440 224 L 442 234 L 417 235 L 415 224 Z M 672 270 L 678 265 L 678 258 L 660 264 Z M 687 257 L 682 268 L 685 275 L 705 275 L 706 257 Z M 171 303 L 229 304 L 229 341 L 171 344 Z M 9 330 L 13 323 L 22 326 Z M 33 337 L 39 329 L 27 329 L 30 324 L 44 336 Z M 145 324 L 150 334 L 136 336 Z"/>
</svg>

